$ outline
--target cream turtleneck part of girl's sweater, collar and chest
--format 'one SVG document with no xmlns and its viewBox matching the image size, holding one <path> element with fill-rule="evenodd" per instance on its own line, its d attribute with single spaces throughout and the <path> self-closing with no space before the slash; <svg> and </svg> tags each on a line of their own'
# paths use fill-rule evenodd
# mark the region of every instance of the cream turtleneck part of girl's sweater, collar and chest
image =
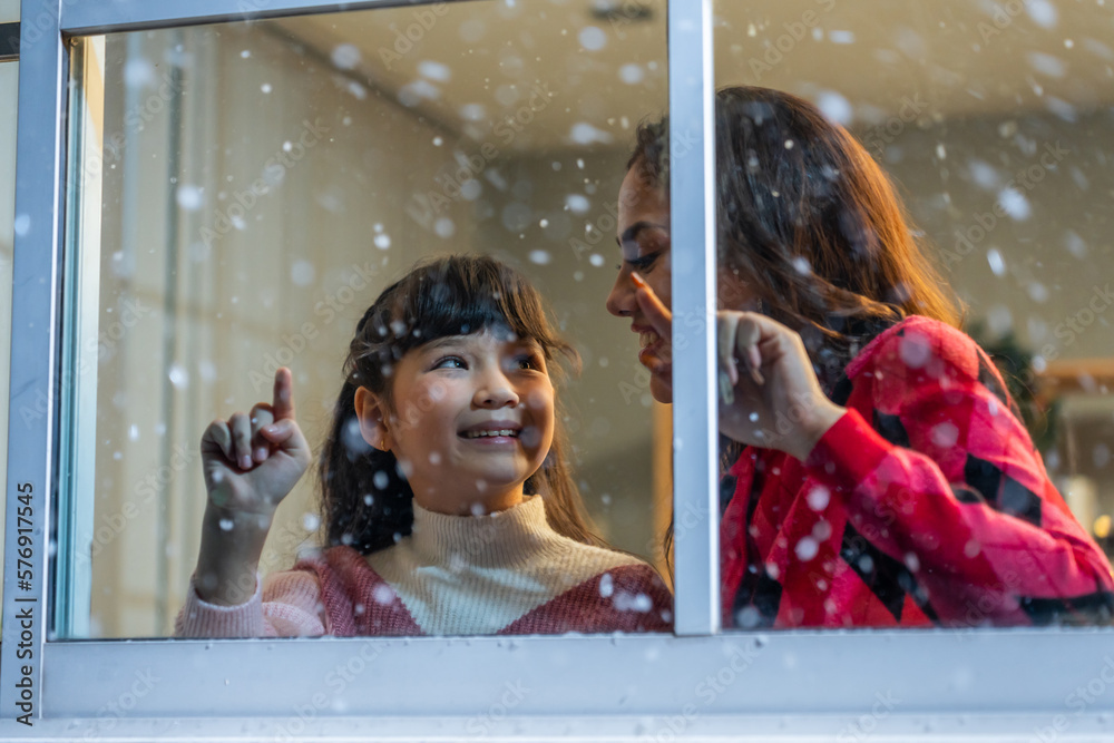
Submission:
<svg viewBox="0 0 1114 743">
<path fill-rule="evenodd" d="M 487 516 L 413 510 L 413 532 L 368 564 L 430 635 L 492 634 L 605 570 L 642 565 L 557 534 L 538 496 Z"/>
</svg>

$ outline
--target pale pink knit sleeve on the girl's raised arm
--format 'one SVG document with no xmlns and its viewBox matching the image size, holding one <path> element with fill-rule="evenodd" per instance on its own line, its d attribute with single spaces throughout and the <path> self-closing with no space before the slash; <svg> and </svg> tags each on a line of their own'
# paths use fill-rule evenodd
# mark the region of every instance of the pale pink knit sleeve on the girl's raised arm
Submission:
<svg viewBox="0 0 1114 743">
<path fill-rule="evenodd" d="M 305 637 L 326 634 L 325 625 L 317 577 L 305 570 L 290 570 L 256 580 L 255 594 L 236 606 L 203 602 L 190 578 L 174 634 L 176 637 Z"/>
</svg>

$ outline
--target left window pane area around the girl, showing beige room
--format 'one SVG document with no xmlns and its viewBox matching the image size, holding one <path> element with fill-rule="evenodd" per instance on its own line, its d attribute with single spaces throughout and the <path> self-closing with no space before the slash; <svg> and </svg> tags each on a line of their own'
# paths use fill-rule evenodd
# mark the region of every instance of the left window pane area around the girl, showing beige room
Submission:
<svg viewBox="0 0 1114 743">
<path fill-rule="evenodd" d="M 356 321 L 446 252 L 494 254 L 554 297 L 585 362 L 558 391 L 580 489 L 612 544 L 655 558 L 668 512 L 653 522 L 648 394 L 628 329 L 596 319 L 614 277 L 613 143 L 666 106 L 664 19 L 584 39 L 575 19 L 478 3 L 76 40 L 75 250 L 99 275 L 77 280 L 91 305 L 72 428 L 89 436 L 74 446 L 91 469 L 71 480 L 85 516 L 59 544 L 74 576 L 58 584 L 61 636 L 170 635 L 197 559 L 209 421 L 268 401 L 287 365 L 323 446 Z M 573 32 L 544 41 L 551 23 Z M 580 72 L 594 67 L 641 77 L 598 87 Z M 569 81 L 545 74 L 565 68 Z M 608 104 L 619 87 L 642 110 Z M 316 482 L 284 501 L 264 573 L 320 544 Z"/>
</svg>

